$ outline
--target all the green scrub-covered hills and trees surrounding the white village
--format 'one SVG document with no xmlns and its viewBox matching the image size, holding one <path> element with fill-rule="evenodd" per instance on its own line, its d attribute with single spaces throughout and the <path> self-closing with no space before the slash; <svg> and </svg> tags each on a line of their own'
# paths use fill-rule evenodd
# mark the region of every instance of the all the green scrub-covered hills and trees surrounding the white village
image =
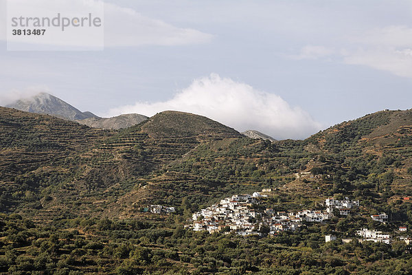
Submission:
<svg viewBox="0 0 412 275">
<path fill-rule="evenodd" d="M 179 112 L 104 131 L 0 108 L 0 272 L 409 274 L 404 242 L 341 239 L 363 227 L 410 228 L 411 145 L 411 111 L 272 143 Z M 317 208 L 332 196 L 359 199 L 361 208 L 262 238 L 183 228 L 192 212 L 262 188 L 274 191 L 259 207 L 277 211 Z M 176 212 L 141 212 L 157 203 Z M 389 224 L 370 219 L 380 212 Z M 325 243 L 325 234 L 338 240 Z"/>
</svg>

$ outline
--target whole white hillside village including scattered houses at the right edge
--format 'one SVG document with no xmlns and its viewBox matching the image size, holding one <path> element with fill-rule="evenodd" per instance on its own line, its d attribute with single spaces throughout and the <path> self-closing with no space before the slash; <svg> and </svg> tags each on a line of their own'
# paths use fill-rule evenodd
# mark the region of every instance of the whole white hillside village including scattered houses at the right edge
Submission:
<svg viewBox="0 0 412 275">
<path fill-rule="evenodd" d="M 269 189 L 264 189 L 262 192 L 267 192 Z M 267 197 L 260 192 L 254 192 L 253 195 L 233 195 L 221 199 L 220 203 L 214 204 L 199 212 L 192 214 L 192 224 L 186 225 L 187 228 L 192 228 L 194 231 L 214 232 L 235 232 L 241 236 L 248 235 L 275 235 L 281 231 L 295 231 L 305 223 L 322 223 L 334 217 L 334 213 L 339 216 L 347 216 L 352 211 L 360 206 L 359 201 L 351 200 L 345 197 L 342 200 L 328 198 L 325 199 L 323 206 L 325 210 L 301 210 L 298 212 L 281 212 L 275 211 L 273 208 L 258 210 L 257 207 L 261 204 L 260 199 Z M 388 222 L 388 215 L 381 213 L 371 215 L 371 219 L 381 223 Z M 400 232 L 406 232 L 406 227 L 400 227 Z M 391 243 L 392 236 L 381 231 L 369 230 L 362 228 L 356 232 L 359 236 L 359 242 L 374 241 L 375 243 Z M 412 238 L 409 236 L 398 236 L 396 239 L 404 241 L 409 245 L 412 243 Z M 325 241 L 334 241 L 336 236 L 326 235 Z M 343 239 L 343 242 L 352 241 L 352 239 Z"/>
</svg>

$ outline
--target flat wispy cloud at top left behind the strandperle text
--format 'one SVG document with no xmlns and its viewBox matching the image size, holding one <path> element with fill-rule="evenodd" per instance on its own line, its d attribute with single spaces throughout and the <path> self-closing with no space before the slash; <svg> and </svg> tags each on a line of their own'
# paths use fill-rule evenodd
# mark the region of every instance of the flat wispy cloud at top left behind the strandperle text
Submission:
<svg viewBox="0 0 412 275">
<path fill-rule="evenodd" d="M 191 28 L 180 28 L 158 19 L 145 17 L 131 8 L 122 8 L 114 3 L 100 0 L 7 0 L 9 14 L 5 12 L 5 0 L 0 0 L 0 21 L 8 22 L 0 25 L 0 40 L 6 41 L 6 25 L 11 24 L 12 17 L 17 14 L 24 17 L 86 17 L 91 13 L 94 17 L 102 17 L 103 28 L 45 28 L 42 36 L 13 36 L 9 30 L 9 41 L 14 44 L 11 50 L 32 50 L 33 45 L 58 46 L 58 50 L 84 50 L 84 48 L 100 49 L 105 47 L 133 47 L 139 45 L 189 45 L 207 43 L 213 36 Z M 104 3 L 104 5 L 103 5 Z M 103 12 L 104 10 L 104 12 Z M 103 16 L 104 14 L 104 16 Z M 8 17 L 10 18 L 6 18 Z M 9 22 L 10 21 L 10 22 Z M 102 31 L 102 32 L 100 32 Z M 36 50 L 55 50 L 54 47 L 34 47 Z"/>
</svg>

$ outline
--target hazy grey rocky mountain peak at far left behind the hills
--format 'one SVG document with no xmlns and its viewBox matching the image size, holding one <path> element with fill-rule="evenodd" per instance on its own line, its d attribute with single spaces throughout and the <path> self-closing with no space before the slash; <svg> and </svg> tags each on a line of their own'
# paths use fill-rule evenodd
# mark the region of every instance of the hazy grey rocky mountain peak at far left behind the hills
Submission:
<svg viewBox="0 0 412 275">
<path fill-rule="evenodd" d="M 22 98 L 12 104 L 8 104 L 6 107 L 30 113 L 47 113 L 66 120 L 97 118 L 93 113 L 83 113 L 60 98 L 44 92 L 30 98 Z"/>
</svg>

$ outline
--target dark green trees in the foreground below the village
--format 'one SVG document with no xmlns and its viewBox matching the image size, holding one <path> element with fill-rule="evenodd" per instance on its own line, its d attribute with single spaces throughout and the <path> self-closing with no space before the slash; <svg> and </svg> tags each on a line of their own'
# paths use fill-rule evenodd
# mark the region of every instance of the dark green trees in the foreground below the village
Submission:
<svg viewBox="0 0 412 275">
<path fill-rule="evenodd" d="M 46 226 L 0 217 L 0 272 L 9 274 L 409 274 L 404 242 L 324 242 L 352 217 L 258 238 L 185 230 L 179 215 L 145 221 L 72 219 Z"/>
</svg>

